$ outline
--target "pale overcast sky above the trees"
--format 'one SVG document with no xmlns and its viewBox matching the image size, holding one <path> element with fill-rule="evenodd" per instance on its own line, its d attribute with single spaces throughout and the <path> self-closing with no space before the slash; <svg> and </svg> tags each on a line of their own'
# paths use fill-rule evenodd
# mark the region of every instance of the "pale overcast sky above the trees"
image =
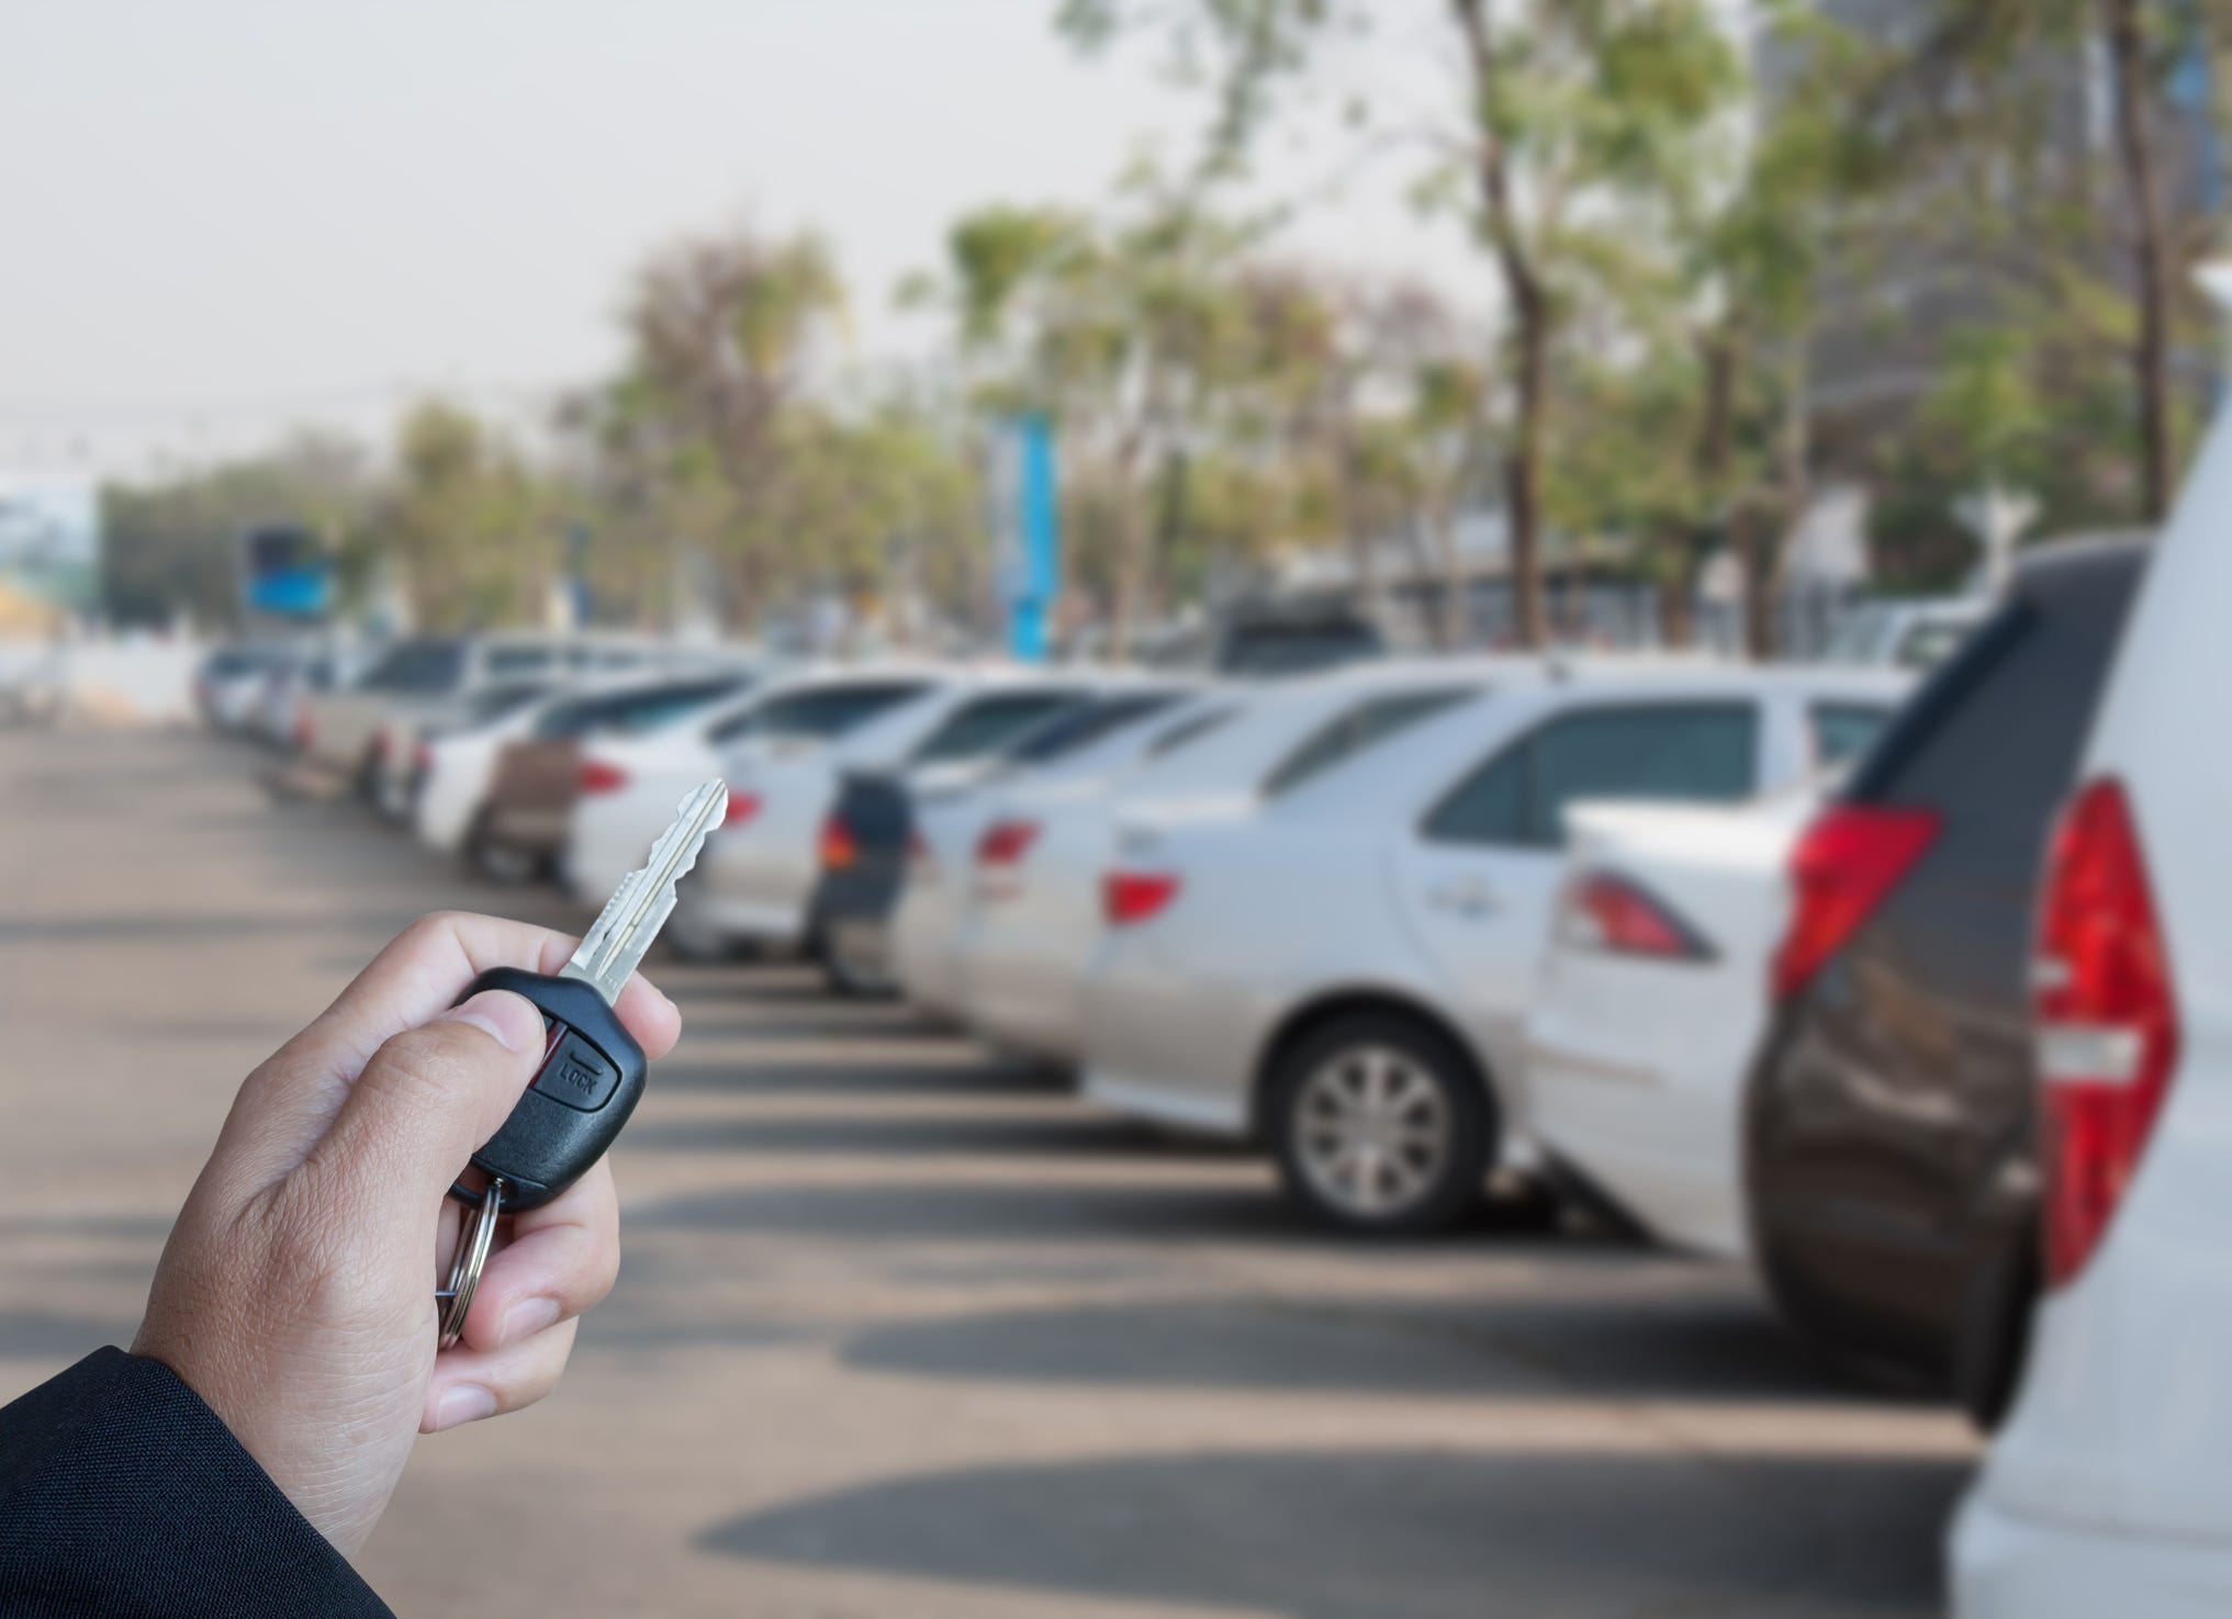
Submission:
<svg viewBox="0 0 2232 1619">
<path fill-rule="evenodd" d="M 1076 201 L 1201 100 L 1147 47 L 1078 60 L 1054 0 L 0 0 L 0 468 L 125 471 L 290 419 L 377 430 L 413 392 L 500 404 L 618 352 L 679 234 L 812 225 L 859 352 L 944 225 Z M 1339 71 L 1435 103 L 1440 9 L 1391 0 Z M 1391 107 L 1393 105 L 1393 107 Z M 1353 140 L 1281 147 L 1272 192 Z M 1404 203 L 1415 154 L 1317 201 L 1297 252 L 1480 306 L 1487 265 Z"/>
</svg>

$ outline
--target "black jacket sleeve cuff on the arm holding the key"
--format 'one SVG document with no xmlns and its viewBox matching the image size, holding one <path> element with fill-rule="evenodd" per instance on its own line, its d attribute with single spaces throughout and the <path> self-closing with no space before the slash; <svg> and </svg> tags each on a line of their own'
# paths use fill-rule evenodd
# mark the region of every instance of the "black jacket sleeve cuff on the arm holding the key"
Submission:
<svg viewBox="0 0 2232 1619">
<path fill-rule="evenodd" d="M 0 1407 L 4 1619 L 395 1619 L 158 1360 L 100 1349 Z"/>
</svg>

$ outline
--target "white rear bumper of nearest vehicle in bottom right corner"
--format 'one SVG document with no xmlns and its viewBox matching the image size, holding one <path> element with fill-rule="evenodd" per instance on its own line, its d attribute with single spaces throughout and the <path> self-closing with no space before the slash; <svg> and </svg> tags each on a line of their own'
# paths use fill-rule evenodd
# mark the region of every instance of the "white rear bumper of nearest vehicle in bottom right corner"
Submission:
<svg viewBox="0 0 2232 1619">
<path fill-rule="evenodd" d="M 2232 1545 L 2038 1523 L 1971 1490 L 1953 1521 L 1957 1619 L 2232 1612 Z"/>
</svg>

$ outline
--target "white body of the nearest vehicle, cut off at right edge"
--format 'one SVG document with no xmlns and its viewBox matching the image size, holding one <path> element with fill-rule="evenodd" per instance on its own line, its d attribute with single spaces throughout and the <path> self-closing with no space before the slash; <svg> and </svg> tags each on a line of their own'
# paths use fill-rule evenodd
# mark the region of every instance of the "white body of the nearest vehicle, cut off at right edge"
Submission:
<svg viewBox="0 0 2232 1619">
<path fill-rule="evenodd" d="M 2176 999 L 2167 1095 L 2100 1247 L 2049 1291 L 1953 1536 L 1962 1619 L 2232 1610 L 2232 415 L 2125 624 L 2080 781 L 2123 785 Z M 2196 725 L 2196 720 L 2201 720 Z"/>
</svg>

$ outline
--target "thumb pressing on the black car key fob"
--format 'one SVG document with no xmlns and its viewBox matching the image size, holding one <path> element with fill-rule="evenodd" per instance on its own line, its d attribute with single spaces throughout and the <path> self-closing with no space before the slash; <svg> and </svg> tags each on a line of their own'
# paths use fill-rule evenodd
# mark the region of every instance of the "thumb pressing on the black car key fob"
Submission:
<svg viewBox="0 0 2232 1619">
<path fill-rule="evenodd" d="M 310 1157 L 379 1198 L 406 1191 L 435 1206 L 502 1128 L 542 1066 L 545 1039 L 542 1012 L 511 990 L 482 990 L 391 1035 Z"/>
</svg>

